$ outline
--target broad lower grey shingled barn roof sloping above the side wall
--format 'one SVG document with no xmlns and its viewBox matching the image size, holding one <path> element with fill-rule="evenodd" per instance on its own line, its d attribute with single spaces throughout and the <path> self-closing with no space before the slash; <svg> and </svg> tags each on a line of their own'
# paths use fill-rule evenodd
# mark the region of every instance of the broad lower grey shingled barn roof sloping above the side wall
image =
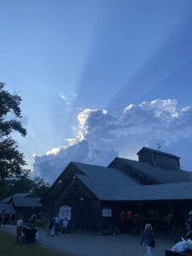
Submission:
<svg viewBox="0 0 192 256">
<path fill-rule="evenodd" d="M 192 200 L 192 182 L 143 186 L 113 168 L 73 165 L 84 172 L 75 176 L 101 201 Z"/>
</svg>

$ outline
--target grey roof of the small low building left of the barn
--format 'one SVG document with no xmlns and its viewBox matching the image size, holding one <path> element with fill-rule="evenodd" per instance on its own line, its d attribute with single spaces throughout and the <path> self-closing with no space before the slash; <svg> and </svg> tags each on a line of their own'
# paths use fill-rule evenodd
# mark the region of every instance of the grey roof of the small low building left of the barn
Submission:
<svg viewBox="0 0 192 256">
<path fill-rule="evenodd" d="M 35 197 L 13 197 L 15 207 L 41 207 L 40 198 Z"/>
</svg>

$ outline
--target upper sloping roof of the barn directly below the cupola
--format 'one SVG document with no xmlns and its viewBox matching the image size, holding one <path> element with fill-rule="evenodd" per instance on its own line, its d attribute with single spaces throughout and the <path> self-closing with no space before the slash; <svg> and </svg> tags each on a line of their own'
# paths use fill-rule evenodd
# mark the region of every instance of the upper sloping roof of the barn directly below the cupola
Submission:
<svg viewBox="0 0 192 256">
<path fill-rule="evenodd" d="M 128 160 L 125 158 L 116 157 L 115 160 L 125 163 L 128 167 L 132 167 L 136 172 L 150 177 L 157 183 L 180 183 L 192 181 L 192 172 L 183 170 L 165 170 L 160 167 L 151 166 L 148 163 L 137 160 Z M 109 166 L 113 166 L 113 162 Z"/>
</svg>

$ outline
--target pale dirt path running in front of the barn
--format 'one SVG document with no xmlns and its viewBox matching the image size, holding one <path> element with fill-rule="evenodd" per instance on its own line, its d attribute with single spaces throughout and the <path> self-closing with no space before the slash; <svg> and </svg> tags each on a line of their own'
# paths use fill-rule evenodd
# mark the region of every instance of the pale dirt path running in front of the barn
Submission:
<svg viewBox="0 0 192 256">
<path fill-rule="evenodd" d="M 7 226 L 5 230 L 15 234 L 15 226 Z M 143 256 L 145 247 L 140 245 L 140 236 L 117 235 L 96 236 L 72 233 L 68 237 L 48 237 L 44 230 L 39 230 L 38 241 L 46 247 L 55 248 L 74 256 Z M 156 247 L 152 249 L 154 256 L 165 255 L 165 249 L 174 245 L 169 239 L 155 239 Z"/>
</svg>

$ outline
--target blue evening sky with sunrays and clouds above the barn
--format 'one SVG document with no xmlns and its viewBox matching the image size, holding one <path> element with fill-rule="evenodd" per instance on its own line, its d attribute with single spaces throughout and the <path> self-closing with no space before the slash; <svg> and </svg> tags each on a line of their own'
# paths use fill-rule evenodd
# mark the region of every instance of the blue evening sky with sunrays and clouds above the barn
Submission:
<svg viewBox="0 0 192 256">
<path fill-rule="evenodd" d="M 143 146 L 192 171 L 191 0 L 0 0 L 0 80 L 22 98 L 27 166 L 108 166 Z"/>
</svg>

